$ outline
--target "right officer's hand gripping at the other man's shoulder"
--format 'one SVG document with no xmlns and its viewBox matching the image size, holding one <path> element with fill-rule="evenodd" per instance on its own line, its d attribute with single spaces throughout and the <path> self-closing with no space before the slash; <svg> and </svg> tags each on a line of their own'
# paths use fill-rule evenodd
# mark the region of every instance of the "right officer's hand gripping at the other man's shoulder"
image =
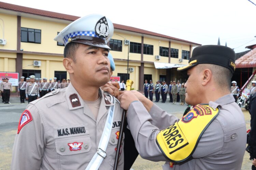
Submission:
<svg viewBox="0 0 256 170">
<path fill-rule="evenodd" d="M 120 101 L 120 106 L 127 110 L 131 102 L 139 101 L 139 99 L 131 91 L 120 91 L 118 100 Z"/>
</svg>

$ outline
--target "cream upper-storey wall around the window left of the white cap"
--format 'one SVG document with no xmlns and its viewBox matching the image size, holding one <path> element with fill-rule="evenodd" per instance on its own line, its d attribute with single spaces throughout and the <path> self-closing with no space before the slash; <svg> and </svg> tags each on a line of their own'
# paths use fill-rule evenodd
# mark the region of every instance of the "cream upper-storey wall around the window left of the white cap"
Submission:
<svg viewBox="0 0 256 170">
<path fill-rule="evenodd" d="M 41 30 L 41 44 L 21 42 L 20 48 L 24 51 L 63 54 L 64 47 L 57 46 L 54 38 L 66 26 L 65 23 L 21 17 L 21 27 Z"/>
</svg>

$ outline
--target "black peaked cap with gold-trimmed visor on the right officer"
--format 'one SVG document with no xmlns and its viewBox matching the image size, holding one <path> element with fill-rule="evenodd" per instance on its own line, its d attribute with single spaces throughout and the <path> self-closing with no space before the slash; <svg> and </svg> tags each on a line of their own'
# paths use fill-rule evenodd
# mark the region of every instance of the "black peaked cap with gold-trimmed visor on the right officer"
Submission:
<svg viewBox="0 0 256 170">
<path fill-rule="evenodd" d="M 232 73 L 236 69 L 236 54 L 234 50 L 226 46 L 207 45 L 199 46 L 193 50 L 188 61 L 188 66 L 179 67 L 177 71 L 185 71 L 198 64 L 215 64 L 228 68 Z"/>
</svg>

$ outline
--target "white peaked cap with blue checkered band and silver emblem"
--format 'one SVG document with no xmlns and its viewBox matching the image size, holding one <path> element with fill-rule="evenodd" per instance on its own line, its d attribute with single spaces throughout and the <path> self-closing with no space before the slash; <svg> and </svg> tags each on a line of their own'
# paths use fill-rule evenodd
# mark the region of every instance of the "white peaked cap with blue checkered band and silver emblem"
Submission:
<svg viewBox="0 0 256 170">
<path fill-rule="evenodd" d="M 64 28 L 54 40 L 63 43 L 79 43 L 110 49 L 107 45 L 114 33 L 110 19 L 103 15 L 91 14 L 81 17 Z"/>
</svg>

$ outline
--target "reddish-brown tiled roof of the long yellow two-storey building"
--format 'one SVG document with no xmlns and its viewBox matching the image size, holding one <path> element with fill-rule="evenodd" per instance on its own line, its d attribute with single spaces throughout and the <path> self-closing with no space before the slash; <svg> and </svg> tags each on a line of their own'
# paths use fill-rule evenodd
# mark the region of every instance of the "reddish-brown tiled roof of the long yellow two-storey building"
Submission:
<svg viewBox="0 0 256 170">
<path fill-rule="evenodd" d="M 20 6 L 20 5 L 14 5 L 14 4 L 5 3 L 5 2 L 0 2 L 0 8 L 6 9 L 6 10 L 29 13 L 29 14 L 41 15 L 41 16 L 46 16 L 46 17 L 59 18 L 59 19 L 64 19 L 64 20 L 69 20 L 69 21 L 74 21 L 74 20 L 80 18 L 78 16 L 61 14 L 61 13 L 45 11 L 45 10 L 39 10 L 39 9 L 35 9 L 35 8 L 30 8 L 30 7 Z M 120 29 L 120 30 L 125 30 L 125 31 L 137 32 L 137 33 L 141 33 L 141 34 L 158 36 L 158 37 L 162 37 L 162 38 L 168 38 L 168 39 L 183 41 L 185 43 L 201 46 L 201 44 L 193 43 L 191 41 L 187 41 L 187 40 L 184 40 L 184 39 L 175 38 L 175 37 L 171 37 L 171 36 L 168 36 L 168 35 L 158 34 L 158 33 L 154 33 L 154 32 L 151 32 L 151 31 L 146 31 L 146 30 L 142 30 L 142 29 L 139 29 L 139 28 L 124 26 L 124 25 L 120 25 L 120 24 L 116 24 L 116 23 L 114 23 L 114 28 L 115 29 Z"/>
</svg>

